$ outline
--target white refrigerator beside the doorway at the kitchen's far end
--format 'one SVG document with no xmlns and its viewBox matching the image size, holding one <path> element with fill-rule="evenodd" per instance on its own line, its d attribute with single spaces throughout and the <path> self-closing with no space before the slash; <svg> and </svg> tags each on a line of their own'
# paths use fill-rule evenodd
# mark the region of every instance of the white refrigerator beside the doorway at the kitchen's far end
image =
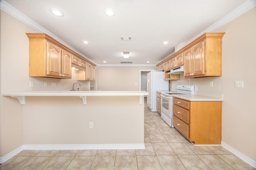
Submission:
<svg viewBox="0 0 256 170">
<path fill-rule="evenodd" d="M 169 81 L 164 80 L 163 71 L 151 71 L 147 74 L 147 105 L 148 108 L 156 112 L 156 91 L 168 91 Z"/>
</svg>

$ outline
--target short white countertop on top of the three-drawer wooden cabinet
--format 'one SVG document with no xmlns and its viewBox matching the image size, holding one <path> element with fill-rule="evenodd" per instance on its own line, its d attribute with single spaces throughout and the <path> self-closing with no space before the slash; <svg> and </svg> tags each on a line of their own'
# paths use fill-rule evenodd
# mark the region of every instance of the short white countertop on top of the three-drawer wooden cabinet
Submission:
<svg viewBox="0 0 256 170">
<path fill-rule="evenodd" d="M 189 95 L 189 94 L 172 94 L 172 97 L 188 101 L 223 101 L 223 98 L 213 98 L 210 96 Z"/>
</svg>

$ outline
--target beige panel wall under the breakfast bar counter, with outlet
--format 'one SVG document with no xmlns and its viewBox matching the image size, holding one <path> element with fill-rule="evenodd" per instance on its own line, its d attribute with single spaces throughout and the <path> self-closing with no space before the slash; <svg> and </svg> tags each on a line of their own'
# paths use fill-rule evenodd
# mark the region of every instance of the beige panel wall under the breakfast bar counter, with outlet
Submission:
<svg viewBox="0 0 256 170">
<path fill-rule="evenodd" d="M 79 96 L 27 97 L 24 144 L 144 144 L 139 96 L 87 96 L 86 101 L 83 105 Z"/>
</svg>

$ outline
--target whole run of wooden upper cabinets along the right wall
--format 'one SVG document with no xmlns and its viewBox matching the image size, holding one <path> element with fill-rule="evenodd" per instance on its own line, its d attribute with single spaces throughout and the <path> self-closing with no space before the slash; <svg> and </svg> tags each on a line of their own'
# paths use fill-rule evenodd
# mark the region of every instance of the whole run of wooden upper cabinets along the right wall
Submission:
<svg viewBox="0 0 256 170">
<path fill-rule="evenodd" d="M 222 37 L 225 33 L 204 33 L 161 63 L 170 69 L 184 65 L 184 78 L 222 76 Z"/>
</svg>

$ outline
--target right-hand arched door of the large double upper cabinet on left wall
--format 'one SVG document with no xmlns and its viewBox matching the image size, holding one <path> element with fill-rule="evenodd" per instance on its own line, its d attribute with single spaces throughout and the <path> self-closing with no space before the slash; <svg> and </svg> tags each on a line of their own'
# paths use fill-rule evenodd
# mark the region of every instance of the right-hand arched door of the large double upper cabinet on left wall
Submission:
<svg viewBox="0 0 256 170">
<path fill-rule="evenodd" d="M 71 78 L 71 53 L 62 50 L 62 77 Z"/>
</svg>

